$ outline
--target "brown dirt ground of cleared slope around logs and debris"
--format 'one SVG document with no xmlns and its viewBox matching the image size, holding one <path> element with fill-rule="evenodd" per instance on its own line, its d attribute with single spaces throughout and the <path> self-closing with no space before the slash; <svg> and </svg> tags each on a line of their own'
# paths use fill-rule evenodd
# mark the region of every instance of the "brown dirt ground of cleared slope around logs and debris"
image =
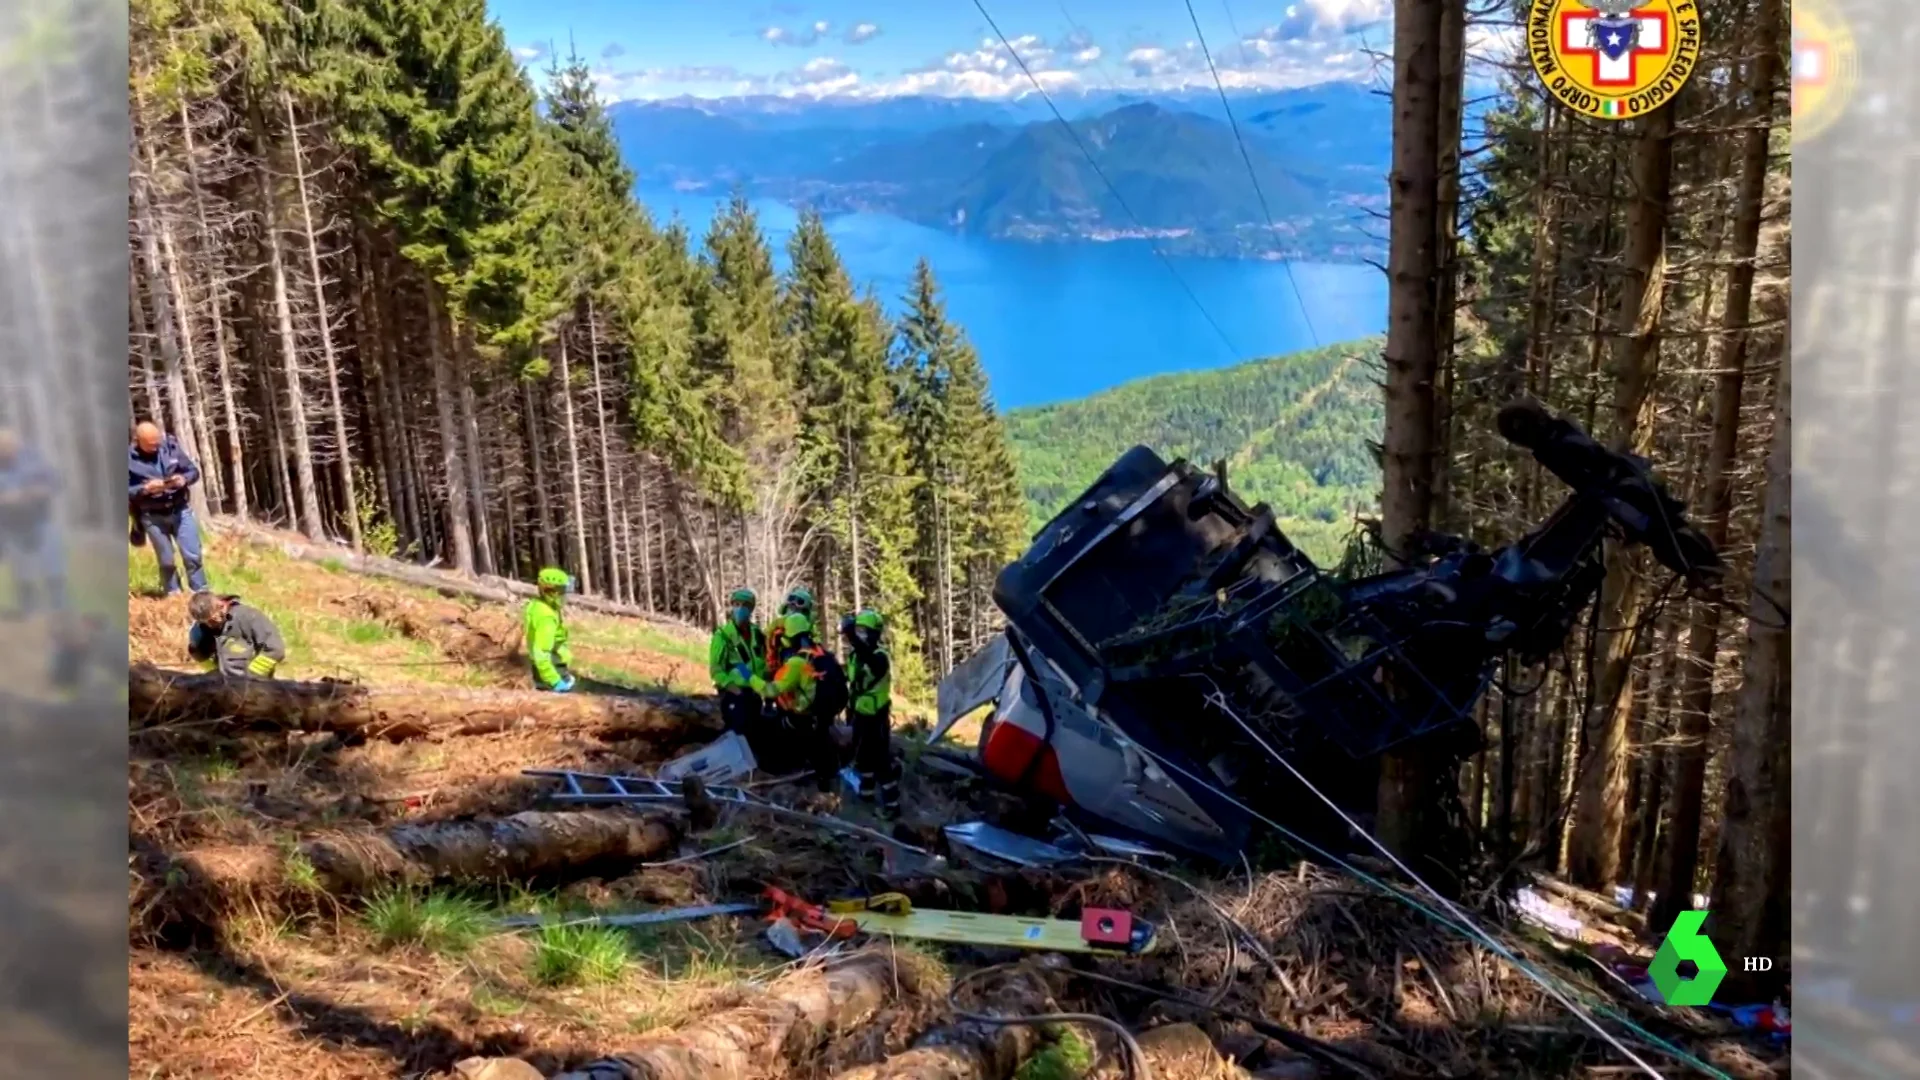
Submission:
<svg viewBox="0 0 1920 1080">
<path fill-rule="evenodd" d="M 447 642 L 511 640 L 513 615 L 357 580 L 271 553 L 246 555 L 252 596 L 300 603 L 324 617 L 300 621 L 300 646 L 324 651 L 338 675 L 442 684 L 516 682 L 518 669 L 451 657 Z M 129 600 L 132 659 L 180 665 L 179 601 Z M 369 628 L 369 625 L 386 630 Z M 453 626 L 455 630 L 449 630 Z M 582 665 L 634 684 L 699 680 L 697 642 L 666 640 L 618 619 L 582 619 Z M 409 632 L 411 630 L 411 632 Z M 649 648 L 660 646 L 660 648 Z M 313 651 L 307 657 L 315 655 Z M 482 661 L 478 667 L 472 661 Z M 382 667 L 384 665 L 384 667 Z M 292 667 L 292 665 L 290 665 Z M 298 661 L 296 676 L 324 665 Z M 536 972 L 532 934 L 486 934 L 467 947 L 382 945 L 363 901 L 278 905 L 271 896 L 228 897 L 217 911 L 186 911 L 167 857 L 207 846 L 276 849 L 315 828 L 390 826 L 401 821 L 503 817 L 536 805 L 522 769 L 636 771 L 651 748 L 591 738 L 509 732 L 442 742 L 348 746 L 334 738 L 171 730 L 140 736 L 129 761 L 132 834 L 129 930 L 131 1076 L 142 1078 L 420 1078 L 474 1055 L 516 1055 L 545 1072 L 578 1065 L 622 1040 L 670 1028 L 739 999 L 743 984 L 785 961 L 760 945 L 753 917 L 712 919 L 630 936 L 632 963 L 603 984 L 553 986 Z M 810 794 L 770 790 L 791 803 Z M 833 799 L 820 803 L 833 807 Z M 1018 813 L 931 774 L 910 774 L 906 834 L 937 842 L 956 815 Z M 858 807 L 845 807 L 860 819 Z M 1405 907 L 1309 867 L 1252 880 L 1210 882 L 1210 896 L 1240 920 L 1269 959 L 1229 955 L 1212 909 L 1187 892 L 1131 871 L 1092 874 L 889 874 L 872 844 L 728 809 L 716 828 L 689 836 L 697 853 L 735 840 L 716 857 L 641 867 L 620 876 L 497 882 L 472 890 L 497 909 L 632 909 L 741 899 L 780 884 L 812 899 L 900 888 L 925 907 L 1077 917 L 1083 905 L 1121 905 L 1156 919 L 1165 945 L 1139 961 L 1100 961 L 1108 974 L 1206 994 L 1231 976 L 1225 1003 L 1263 1015 L 1373 1063 L 1388 1076 L 1582 1076 L 1613 1059 L 1511 967 L 1425 922 Z M 1008 959 L 981 949 L 899 945 L 952 970 Z M 1062 984 L 1064 1007 L 1091 1009 L 1137 1028 L 1204 1019 L 1125 990 Z M 860 1032 L 793 1070 L 829 1076 L 902 1049 L 933 1022 L 937 1001 L 902 1001 Z M 1244 1030 L 1206 1020 L 1229 1045 L 1260 1045 Z M 1686 1032 L 1682 1032 L 1686 1034 Z M 1112 1045 L 1094 1070 L 1117 1076 Z M 1738 1040 L 1709 1032 L 1690 1045 L 1740 1076 L 1768 1063 Z M 1738 1068 L 1736 1068 L 1738 1067 Z"/>
</svg>

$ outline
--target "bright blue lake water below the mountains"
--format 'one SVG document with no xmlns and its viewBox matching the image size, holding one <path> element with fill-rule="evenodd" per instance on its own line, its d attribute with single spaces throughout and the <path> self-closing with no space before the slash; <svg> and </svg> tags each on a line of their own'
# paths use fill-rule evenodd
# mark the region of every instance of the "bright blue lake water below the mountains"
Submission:
<svg viewBox="0 0 1920 1080">
<path fill-rule="evenodd" d="M 678 213 L 695 244 L 720 206 L 707 192 L 643 188 L 639 196 L 662 223 Z M 772 200 L 755 200 L 753 208 L 783 267 L 799 213 Z M 828 233 L 854 282 L 876 288 L 895 313 L 914 261 L 925 256 L 933 263 L 947 313 L 979 352 L 1002 409 L 1081 398 L 1146 375 L 1354 340 L 1386 327 L 1386 279 L 1369 265 L 1292 263 L 1290 284 L 1283 263 L 1162 261 L 1140 240 L 1018 244 L 956 236 L 883 213 L 829 217 Z"/>
</svg>

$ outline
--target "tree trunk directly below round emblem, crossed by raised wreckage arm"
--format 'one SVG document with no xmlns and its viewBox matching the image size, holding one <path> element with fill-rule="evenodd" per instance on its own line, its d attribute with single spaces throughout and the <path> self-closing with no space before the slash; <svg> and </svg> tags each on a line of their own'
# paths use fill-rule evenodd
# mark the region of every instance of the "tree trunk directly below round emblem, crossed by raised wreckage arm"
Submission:
<svg viewBox="0 0 1920 1080">
<path fill-rule="evenodd" d="M 1615 307 L 1613 423 L 1615 450 L 1645 452 L 1651 430 L 1644 413 L 1659 365 L 1659 327 L 1667 279 L 1667 217 L 1672 192 L 1672 102 L 1653 110 L 1634 140 L 1634 202 L 1626 215 L 1626 281 Z M 1626 694 L 1638 646 L 1642 580 L 1630 553 L 1611 546 L 1601 588 L 1596 692 L 1586 715 L 1592 757 L 1580 771 L 1574 803 L 1569 874 L 1574 884 L 1605 888 L 1619 878 L 1620 830 L 1626 826 L 1630 773 L 1626 724 L 1634 700 Z"/>
</svg>

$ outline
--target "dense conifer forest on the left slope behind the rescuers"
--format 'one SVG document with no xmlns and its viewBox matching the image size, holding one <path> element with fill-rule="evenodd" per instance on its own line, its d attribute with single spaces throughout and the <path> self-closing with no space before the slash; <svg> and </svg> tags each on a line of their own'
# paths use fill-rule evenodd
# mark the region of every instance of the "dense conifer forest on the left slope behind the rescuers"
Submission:
<svg viewBox="0 0 1920 1080">
<path fill-rule="evenodd" d="M 893 323 L 818 217 L 787 275 L 743 202 L 662 227 L 480 0 L 138 0 L 132 117 L 131 405 L 202 509 L 701 625 L 810 584 L 908 684 L 989 630 L 1021 507 L 929 267 Z"/>
</svg>

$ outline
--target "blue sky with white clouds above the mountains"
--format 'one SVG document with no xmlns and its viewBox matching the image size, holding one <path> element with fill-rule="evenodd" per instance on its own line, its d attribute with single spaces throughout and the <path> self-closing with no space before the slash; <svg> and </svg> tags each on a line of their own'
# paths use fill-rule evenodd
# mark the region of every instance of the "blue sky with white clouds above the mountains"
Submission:
<svg viewBox="0 0 1920 1080">
<path fill-rule="evenodd" d="M 1390 0 L 981 0 L 1048 92 L 1386 81 Z M 1002 98 L 1033 88 L 973 0 L 490 0 L 522 63 L 576 50 L 607 100 Z M 1484 37 L 1484 35 L 1476 35 Z M 1204 42 L 1204 44 L 1202 44 Z"/>
</svg>

